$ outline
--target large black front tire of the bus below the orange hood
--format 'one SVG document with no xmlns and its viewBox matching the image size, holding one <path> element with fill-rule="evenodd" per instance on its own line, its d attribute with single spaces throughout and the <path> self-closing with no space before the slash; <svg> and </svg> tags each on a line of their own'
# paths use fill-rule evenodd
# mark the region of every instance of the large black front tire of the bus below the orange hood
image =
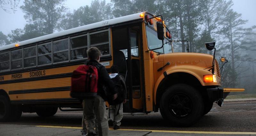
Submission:
<svg viewBox="0 0 256 136">
<path fill-rule="evenodd" d="M 201 94 L 187 84 L 175 84 L 162 95 L 160 112 L 174 126 L 189 126 L 203 115 L 204 103 Z"/>
</svg>

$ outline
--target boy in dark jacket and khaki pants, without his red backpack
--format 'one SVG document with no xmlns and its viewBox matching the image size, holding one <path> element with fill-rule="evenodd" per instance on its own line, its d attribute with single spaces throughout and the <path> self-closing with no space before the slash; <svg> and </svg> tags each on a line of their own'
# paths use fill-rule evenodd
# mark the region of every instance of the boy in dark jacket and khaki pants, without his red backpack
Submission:
<svg viewBox="0 0 256 136">
<path fill-rule="evenodd" d="M 108 136 L 108 118 L 105 104 L 107 97 L 103 86 L 110 88 L 109 91 L 111 91 L 113 99 L 117 97 L 115 83 L 111 81 L 106 68 L 99 63 L 100 55 L 100 50 L 97 47 L 91 47 L 87 50 L 89 61 L 86 62 L 86 65 L 93 65 L 98 69 L 98 95 L 83 100 L 82 135 L 85 135 L 87 131 L 88 136 Z M 95 120 L 97 120 L 97 125 L 95 125 Z M 98 133 L 96 133 L 94 127 L 96 127 L 96 131 L 98 130 Z"/>
</svg>

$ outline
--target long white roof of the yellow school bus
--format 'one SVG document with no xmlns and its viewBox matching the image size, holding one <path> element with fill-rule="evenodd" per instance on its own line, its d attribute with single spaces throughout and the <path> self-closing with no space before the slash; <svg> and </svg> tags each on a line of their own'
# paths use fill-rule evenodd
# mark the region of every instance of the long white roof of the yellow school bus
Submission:
<svg viewBox="0 0 256 136">
<path fill-rule="evenodd" d="M 20 47 L 20 46 L 23 46 L 23 45 L 32 44 L 32 43 L 36 43 L 36 42 L 47 40 L 47 39 L 57 38 L 57 37 L 60 37 L 60 36 L 64 36 L 64 35 L 68 35 L 68 34 L 72 34 L 72 33 L 76 33 L 76 32 L 82 32 L 82 31 L 93 29 L 93 28 L 98 28 L 98 27 L 108 26 L 108 25 L 114 25 L 114 24 L 118 24 L 118 23 L 122 23 L 122 22 L 127 22 L 127 21 L 131 21 L 131 20 L 140 19 L 141 18 L 140 14 L 142 14 L 142 13 L 144 13 L 144 12 L 140 12 L 140 13 L 124 16 L 124 17 L 119 17 L 119 18 L 113 18 L 113 19 L 109 19 L 109 20 L 105 20 L 105 21 L 100 21 L 100 22 L 97 22 L 97 23 L 84 25 L 84 26 L 79 26 L 79 27 L 68 29 L 68 30 L 61 31 L 61 32 L 56 32 L 56 33 L 36 37 L 36 38 L 33 38 L 33 39 L 20 41 L 20 42 L 17 42 L 17 43 L 2 46 L 2 47 L 0 47 L 0 51 L 10 49 L 10 48 L 14 48 L 15 45 L 17 45 L 17 44 L 18 44 L 18 47 Z"/>
</svg>

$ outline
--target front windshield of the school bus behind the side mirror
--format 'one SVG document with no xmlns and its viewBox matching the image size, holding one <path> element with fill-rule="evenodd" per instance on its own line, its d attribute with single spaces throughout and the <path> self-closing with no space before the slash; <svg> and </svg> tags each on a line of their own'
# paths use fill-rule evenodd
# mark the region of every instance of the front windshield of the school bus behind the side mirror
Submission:
<svg viewBox="0 0 256 136">
<path fill-rule="evenodd" d="M 148 41 L 148 48 L 149 49 L 155 49 L 162 47 L 162 40 L 159 40 L 157 38 L 157 32 L 146 25 L 146 33 L 147 33 L 147 41 Z M 171 42 L 169 40 L 164 38 L 164 47 L 160 49 L 153 50 L 159 54 L 168 54 L 172 53 L 172 46 Z"/>
</svg>

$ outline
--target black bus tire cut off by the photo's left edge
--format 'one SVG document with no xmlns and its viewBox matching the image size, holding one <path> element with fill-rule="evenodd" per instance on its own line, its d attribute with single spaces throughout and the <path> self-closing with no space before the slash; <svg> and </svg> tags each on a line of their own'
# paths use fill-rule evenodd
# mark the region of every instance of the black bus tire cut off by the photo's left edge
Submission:
<svg viewBox="0 0 256 136">
<path fill-rule="evenodd" d="M 11 113 L 10 100 L 5 96 L 0 96 L 0 122 L 9 121 Z"/>
</svg>

